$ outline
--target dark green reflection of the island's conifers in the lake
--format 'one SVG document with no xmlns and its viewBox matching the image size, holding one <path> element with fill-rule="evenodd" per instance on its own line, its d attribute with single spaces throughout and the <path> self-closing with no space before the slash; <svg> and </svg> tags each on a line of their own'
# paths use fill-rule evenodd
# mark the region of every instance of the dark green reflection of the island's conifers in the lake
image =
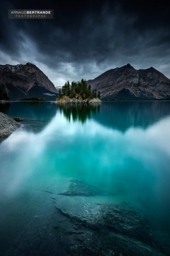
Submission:
<svg viewBox="0 0 170 256">
<path fill-rule="evenodd" d="M 59 108 L 69 122 L 72 118 L 73 122 L 84 123 L 91 115 L 100 112 L 100 104 L 59 104 Z"/>
</svg>

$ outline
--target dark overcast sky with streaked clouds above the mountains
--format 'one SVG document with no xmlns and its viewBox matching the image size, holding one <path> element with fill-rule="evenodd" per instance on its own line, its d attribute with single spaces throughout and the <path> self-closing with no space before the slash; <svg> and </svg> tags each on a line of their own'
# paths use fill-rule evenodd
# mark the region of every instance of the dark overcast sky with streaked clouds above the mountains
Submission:
<svg viewBox="0 0 170 256">
<path fill-rule="evenodd" d="M 164 0 L 1 1 L 0 64 L 31 62 L 55 86 L 127 63 L 170 78 L 169 6 Z M 54 9 L 54 19 L 8 19 L 8 9 Z"/>
</svg>

